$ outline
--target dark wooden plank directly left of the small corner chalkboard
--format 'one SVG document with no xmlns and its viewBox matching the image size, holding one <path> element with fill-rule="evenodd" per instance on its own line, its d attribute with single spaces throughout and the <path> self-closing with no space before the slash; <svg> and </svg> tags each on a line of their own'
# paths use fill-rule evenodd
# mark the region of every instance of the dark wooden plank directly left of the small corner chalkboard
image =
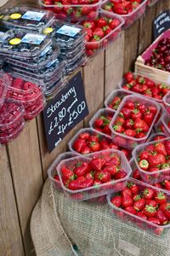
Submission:
<svg viewBox="0 0 170 256">
<path fill-rule="evenodd" d="M 156 17 L 156 5 L 146 9 L 139 22 L 139 49 L 138 55 L 144 52 L 152 42 L 152 22 Z"/>
</svg>

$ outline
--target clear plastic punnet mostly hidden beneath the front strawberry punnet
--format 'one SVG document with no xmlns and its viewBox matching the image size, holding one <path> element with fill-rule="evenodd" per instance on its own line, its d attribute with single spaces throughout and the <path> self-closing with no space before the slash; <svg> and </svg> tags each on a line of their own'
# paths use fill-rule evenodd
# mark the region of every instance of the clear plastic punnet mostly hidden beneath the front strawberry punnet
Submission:
<svg viewBox="0 0 170 256">
<path fill-rule="evenodd" d="M 61 160 L 70 159 L 71 157 L 77 156 L 76 153 L 73 152 L 65 152 L 59 154 L 58 157 L 54 160 L 53 164 L 48 168 L 48 177 L 51 182 L 54 184 L 55 189 L 62 189 L 61 183 L 59 182 L 59 176 L 57 173 L 57 166 Z"/>
</svg>

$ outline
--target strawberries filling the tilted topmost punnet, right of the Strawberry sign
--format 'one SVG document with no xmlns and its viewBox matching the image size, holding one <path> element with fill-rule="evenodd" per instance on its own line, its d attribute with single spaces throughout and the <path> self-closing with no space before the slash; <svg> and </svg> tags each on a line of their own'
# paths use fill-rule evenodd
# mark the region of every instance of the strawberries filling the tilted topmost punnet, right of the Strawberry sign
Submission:
<svg viewBox="0 0 170 256">
<path fill-rule="evenodd" d="M 158 113 L 159 110 L 153 102 L 144 102 L 138 96 L 126 96 L 111 125 L 116 133 L 142 138 L 148 134 L 150 126 L 154 125 Z"/>
</svg>

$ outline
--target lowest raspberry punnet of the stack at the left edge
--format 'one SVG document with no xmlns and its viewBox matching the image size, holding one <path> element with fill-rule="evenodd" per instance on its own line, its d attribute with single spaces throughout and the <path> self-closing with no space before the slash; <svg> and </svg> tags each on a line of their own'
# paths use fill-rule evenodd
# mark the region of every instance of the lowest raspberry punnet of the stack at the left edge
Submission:
<svg viewBox="0 0 170 256">
<path fill-rule="evenodd" d="M 6 131 L 0 131 L 0 143 L 6 144 L 14 140 L 16 137 L 20 135 L 20 132 L 23 131 L 24 126 L 25 120 L 22 119 L 18 125 L 14 126 L 14 128 Z"/>
</svg>

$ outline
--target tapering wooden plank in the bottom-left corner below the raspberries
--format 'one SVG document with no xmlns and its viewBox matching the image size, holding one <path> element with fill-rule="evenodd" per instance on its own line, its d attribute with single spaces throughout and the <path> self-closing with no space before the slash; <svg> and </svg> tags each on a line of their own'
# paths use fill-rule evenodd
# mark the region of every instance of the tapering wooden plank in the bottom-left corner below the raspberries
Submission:
<svg viewBox="0 0 170 256">
<path fill-rule="evenodd" d="M 5 146 L 0 148 L 0 255 L 25 255 Z"/>
</svg>

